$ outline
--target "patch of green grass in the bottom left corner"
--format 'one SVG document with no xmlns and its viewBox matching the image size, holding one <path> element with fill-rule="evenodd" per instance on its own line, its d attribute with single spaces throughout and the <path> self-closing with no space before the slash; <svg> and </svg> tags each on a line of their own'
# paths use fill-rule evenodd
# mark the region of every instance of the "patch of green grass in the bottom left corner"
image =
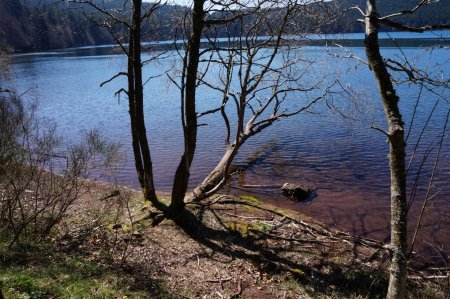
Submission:
<svg viewBox="0 0 450 299">
<path fill-rule="evenodd" d="M 6 298 L 145 298 L 129 289 L 132 278 L 77 258 L 1 269 Z"/>
</svg>

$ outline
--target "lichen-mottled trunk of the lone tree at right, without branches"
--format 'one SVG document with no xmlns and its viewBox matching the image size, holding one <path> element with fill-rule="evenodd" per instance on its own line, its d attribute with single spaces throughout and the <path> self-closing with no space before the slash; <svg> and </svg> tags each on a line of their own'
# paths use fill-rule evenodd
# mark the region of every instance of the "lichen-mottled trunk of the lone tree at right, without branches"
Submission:
<svg viewBox="0 0 450 299">
<path fill-rule="evenodd" d="M 405 141 L 399 98 L 380 54 L 376 1 L 367 0 L 366 56 L 378 84 L 388 122 L 389 162 L 391 171 L 391 266 L 387 298 L 406 297 L 407 209 Z"/>
</svg>

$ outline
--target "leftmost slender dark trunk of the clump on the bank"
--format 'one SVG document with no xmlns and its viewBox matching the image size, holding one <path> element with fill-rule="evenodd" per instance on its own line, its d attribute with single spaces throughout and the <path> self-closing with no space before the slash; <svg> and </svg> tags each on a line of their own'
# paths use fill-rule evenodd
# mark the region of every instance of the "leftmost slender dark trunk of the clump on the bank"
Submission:
<svg viewBox="0 0 450 299">
<path fill-rule="evenodd" d="M 144 119 L 144 95 L 141 62 L 141 5 L 142 0 L 133 0 L 132 25 L 128 48 L 128 99 L 131 120 L 131 136 L 135 166 L 139 183 L 146 200 L 158 203 L 153 184 L 153 168 Z"/>
</svg>

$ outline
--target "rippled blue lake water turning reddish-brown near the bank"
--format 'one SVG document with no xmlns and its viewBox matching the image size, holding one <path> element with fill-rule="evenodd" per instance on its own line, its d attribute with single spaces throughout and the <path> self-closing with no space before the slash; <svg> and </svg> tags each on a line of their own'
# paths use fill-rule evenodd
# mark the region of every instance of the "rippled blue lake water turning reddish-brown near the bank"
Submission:
<svg viewBox="0 0 450 299">
<path fill-rule="evenodd" d="M 355 35 L 348 38 L 355 39 Z M 298 55 L 317 61 L 308 75 L 309 80 L 319 74 L 332 74 L 333 78 L 339 78 L 352 88 L 352 96 L 334 95 L 328 99 L 346 117 L 329 110 L 329 105 L 322 102 L 312 109 L 314 113 L 304 113 L 276 123 L 245 144 L 235 161 L 244 170 L 225 190 L 255 196 L 298 210 L 328 225 L 387 241 L 390 218 L 388 145 L 383 134 L 370 128 L 372 123 L 385 127 L 383 110 L 368 68 L 355 60 L 336 58 L 336 54 L 348 55 L 347 51 L 364 57 L 363 48 L 359 47 L 344 50 L 311 46 L 298 52 Z M 448 79 L 450 74 L 450 51 L 445 47 L 433 51 L 408 47 L 403 52 L 385 48 L 383 54 L 387 57 L 406 55 L 411 63 L 428 65 L 428 71 L 440 72 L 442 78 Z M 174 55 L 168 56 L 148 65 L 144 76 L 173 72 L 179 67 L 180 60 Z M 144 55 L 146 57 L 147 54 Z M 117 179 L 122 184 L 138 187 L 130 146 L 127 99 L 114 97 L 115 91 L 125 87 L 126 82 L 120 79 L 99 87 L 101 82 L 125 69 L 125 57 L 114 53 L 110 47 L 87 47 L 16 55 L 12 77 L 19 91 L 28 91 L 28 98 L 38 100 L 39 115 L 55 120 L 66 140 L 76 142 L 81 131 L 100 128 L 111 141 L 121 143 L 126 161 Z M 214 76 L 211 74 L 211 78 Z M 419 88 L 403 84 L 398 86 L 398 93 L 409 130 Z M 155 184 L 158 191 L 168 192 L 183 145 L 179 92 L 166 76 L 162 76 L 146 85 L 145 95 Z M 450 107 L 448 91 L 441 94 L 441 98 L 425 89 L 421 95 L 408 139 L 408 159 L 433 106 L 438 100 L 439 103 L 425 128 L 409 170 L 409 180 L 413 182 L 426 151 L 431 149 L 421 171 L 417 198 L 411 208 L 410 231 L 413 231 L 425 196 L 436 156 L 436 144 Z M 201 89 L 198 111 L 215 107 L 218 100 L 212 91 Z M 191 186 L 199 183 L 212 170 L 224 151 L 222 120 L 208 117 L 202 122 L 208 125 L 199 129 Z M 448 137 L 448 129 L 445 135 Z M 425 228 L 417 247 L 437 260 L 441 258 L 440 250 L 450 249 L 449 153 L 450 142 L 446 138 L 438 161 L 439 175 L 432 190 L 432 194 L 438 194 L 427 207 Z M 291 202 L 283 198 L 277 189 L 285 182 L 316 186 L 318 196 L 309 204 Z M 251 185 L 264 185 L 266 188 L 252 188 Z"/>
</svg>

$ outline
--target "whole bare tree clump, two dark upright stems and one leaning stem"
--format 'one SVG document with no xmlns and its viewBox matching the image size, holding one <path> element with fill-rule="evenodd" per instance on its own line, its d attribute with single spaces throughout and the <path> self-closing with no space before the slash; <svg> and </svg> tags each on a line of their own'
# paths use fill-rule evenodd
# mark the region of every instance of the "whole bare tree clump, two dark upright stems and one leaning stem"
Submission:
<svg viewBox="0 0 450 299">
<path fill-rule="evenodd" d="M 103 15 L 104 19 L 99 21 L 93 14 L 86 13 L 91 21 L 110 30 L 127 56 L 127 71 L 118 73 L 103 84 L 120 76 L 126 76 L 128 79 L 127 89 L 120 89 L 118 94 L 126 94 L 129 100 L 133 153 L 141 189 L 145 199 L 169 217 L 176 216 L 186 204 L 185 196 L 197 146 L 200 117 L 220 111 L 226 127 L 227 150 L 215 170 L 196 188 L 193 196 L 195 200 L 214 194 L 224 185 L 233 158 L 248 138 L 282 118 L 307 110 L 323 97 L 315 91 L 321 83 L 320 80 L 315 84 L 302 84 L 305 70 L 299 70 L 299 58 L 292 51 L 294 47 L 290 44 L 295 40 L 287 37 L 298 30 L 296 22 L 301 8 L 307 12 L 308 5 L 317 5 L 317 1 L 306 3 L 293 0 L 194 0 L 190 10 L 186 10 L 184 18 L 181 19 L 179 31 L 185 43 L 184 48 L 178 50 L 182 59 L 180 76 L 171 77 L 180 89 L 184 151 L 175 172 L 171 203 L 167 207 L 157 198 L 153 184 L 152 161 L 143 112 L 144 64 L 141 61 L 141 38 L 144 35 L 141 28 L 162 4 L 145 4 L 133 0 L 124 1 L 123 9 L 105 9 L 96 4 L 96 1 L 66 2 L 88 5 Z M 239 29 L 230 31 L 233 26 Z M 228 36 L 226 47 L 217 43 L 219 30 Z M 268 37 L 261 39 L 262 34 Z M 206 43 L 206 47 L 202 43 Z M 205 79 L 213 67 L 221 68 L 225 74 L 219 82 L 209 82 Z M 237 81 L 240 83 L 236 89 L 233 86 Z M 197 111 L 197 90 L 200 85 L 218 92 L 222 98 L 219 108 Z M 288 96 L 290 93 L 292 95 Z M 305 99 L 303 101 L 300 100 L 302 96 Z M 287 109 L 287 99 L 296 101 L 298 105 L 293 105 L 296 108 Z M 226 110 L 233 104 L 237 111 L 235 126 L 230 123 Z M 235 132 L 232 132 L 232 127 Z"/>
</svg>

